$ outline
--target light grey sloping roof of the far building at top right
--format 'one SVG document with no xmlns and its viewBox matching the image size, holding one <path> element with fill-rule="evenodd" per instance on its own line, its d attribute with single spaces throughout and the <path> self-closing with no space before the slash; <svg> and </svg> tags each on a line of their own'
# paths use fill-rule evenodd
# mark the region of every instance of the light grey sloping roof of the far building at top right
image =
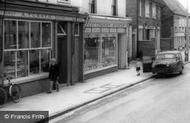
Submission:
<svg viewBox="0 0 190 123">
<path fill-rule="evenodd" d="M 178 0 L 163 0 L 163 1 L 173 13 L 186 16 L 186 9 Z"/>
</svg>

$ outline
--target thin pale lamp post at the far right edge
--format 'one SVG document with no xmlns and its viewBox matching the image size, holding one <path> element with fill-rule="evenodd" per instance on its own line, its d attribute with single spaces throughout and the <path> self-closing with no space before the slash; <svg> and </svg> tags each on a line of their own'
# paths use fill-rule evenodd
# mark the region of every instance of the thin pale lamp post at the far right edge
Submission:
<svg viewBox="0 0 190 123">
<path fill-rule="evenodd" d="M 186 25 L 186 58 L 187 58 L 187 61 L 189 61 L 189 0 L 186 0 L 187 1 L 187 12 L 186 12 L 186 21 L 187 21 L 187 25 Z"/>
</svg>

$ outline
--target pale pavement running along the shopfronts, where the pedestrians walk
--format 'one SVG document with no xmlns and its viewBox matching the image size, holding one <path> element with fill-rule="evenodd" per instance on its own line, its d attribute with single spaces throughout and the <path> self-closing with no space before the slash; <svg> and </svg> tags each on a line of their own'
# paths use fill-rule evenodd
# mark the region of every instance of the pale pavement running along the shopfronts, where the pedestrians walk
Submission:
<svg viewBox="0 0 190 123">
<path fill-rule="evenodd" d="M 49 116 L 53 119 L 152 77 L 152 73 L 142 72 L 140 76 L 136 76 L 134 64 L 135 62 L 131 62 L 129 69 L 62 87 L 59 92 L 44 92 L 24 97 L 19 103 L 9 102 L 3 105 L 0 111 L 49 111 Z"/>
</svg>

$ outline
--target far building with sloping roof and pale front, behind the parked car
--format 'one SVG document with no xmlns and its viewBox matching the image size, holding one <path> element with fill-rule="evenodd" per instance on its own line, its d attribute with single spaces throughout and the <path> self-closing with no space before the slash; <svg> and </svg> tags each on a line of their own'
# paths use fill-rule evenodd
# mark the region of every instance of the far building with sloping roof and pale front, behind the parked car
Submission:
<svg viewBox="0 0 190 123">
<path fill-rule="evenodd" d="M 179 49 L 186 45 L 186 10 L 177 0 L 163 0 L 161 49 Z"/>
</svg>

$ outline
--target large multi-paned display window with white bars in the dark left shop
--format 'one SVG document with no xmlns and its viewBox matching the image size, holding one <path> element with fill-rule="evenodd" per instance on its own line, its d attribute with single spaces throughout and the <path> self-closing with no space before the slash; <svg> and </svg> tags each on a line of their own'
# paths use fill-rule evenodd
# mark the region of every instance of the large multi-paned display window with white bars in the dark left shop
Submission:
<svg viewBox="0 0 190 123">
<path fill-rule="evenodd" d="M 4 72 L 14 78 L 48 72 L 52 23 L 4 20 L 3 27 Z"/>
</svg>

